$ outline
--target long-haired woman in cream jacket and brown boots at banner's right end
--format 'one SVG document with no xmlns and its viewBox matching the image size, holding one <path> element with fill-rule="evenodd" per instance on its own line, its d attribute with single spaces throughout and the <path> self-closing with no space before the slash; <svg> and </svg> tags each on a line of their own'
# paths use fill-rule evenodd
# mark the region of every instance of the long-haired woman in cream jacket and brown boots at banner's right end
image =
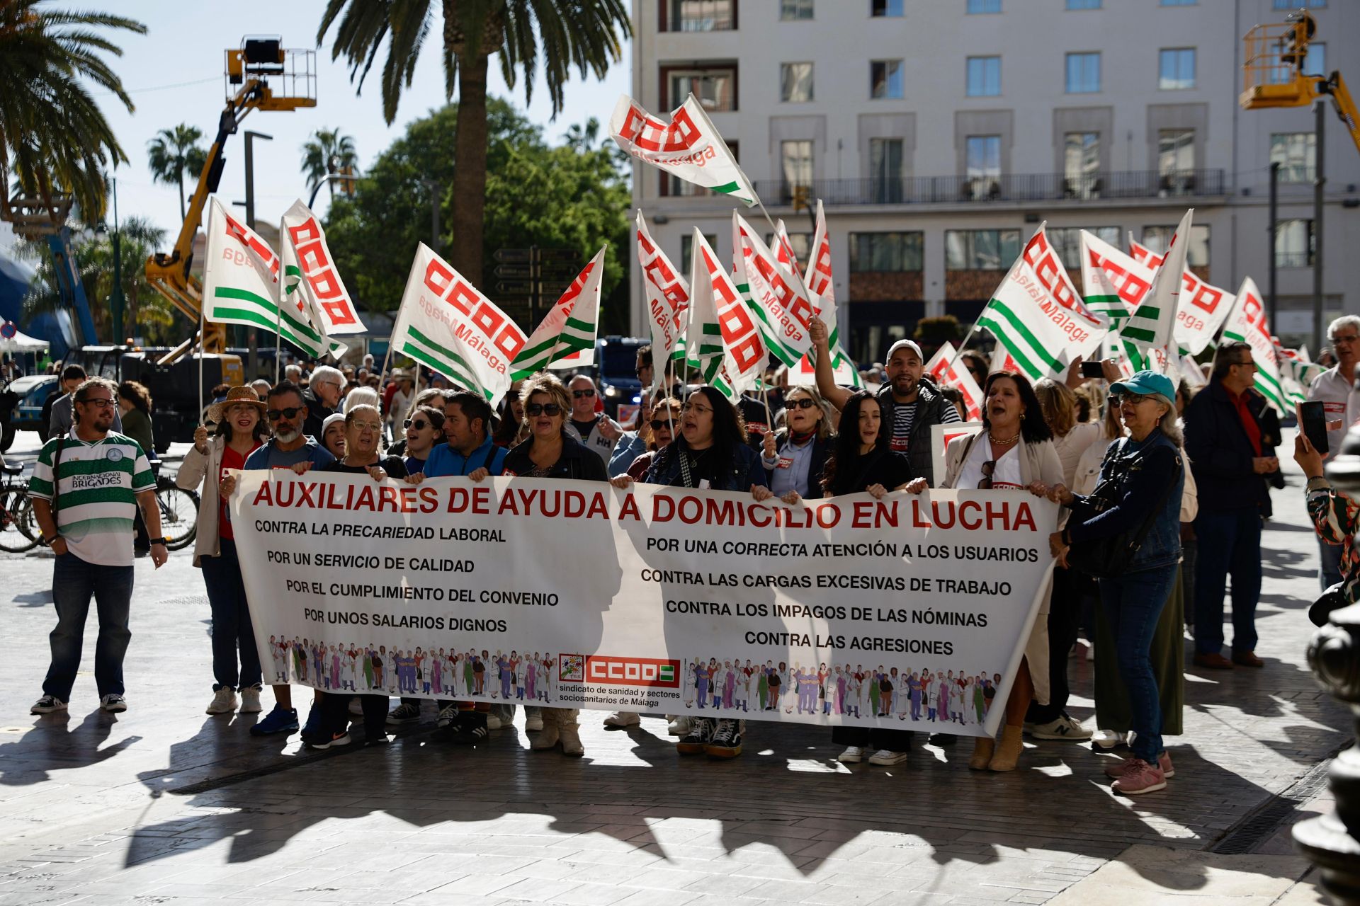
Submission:
<svg viewBox="0 0 1360 906">
<path fill-rule="evenodd" d="M 947 471 L 940 486 L 981 490 L 1024 488 L 1035 496 L 1046 496 L 1049 488 L 1062 484 L 1062 462 L 1053 447 L 1053 432 L 1043 420 L 1043 407 L 1034 387 L 1024 375 L 994 371 L 987 375 L 982 391 L 982 431 L 949 441 L 945 450 Z M 917 478 L 907 485 L 907 492 L 919 494 L 926 486 L 925 479 Z M 1024 659 L 1006 698 L 1001 742 L 978 736 L 968 759 L 971 770 L 1015 770 L 1024 751 L 1021 733 L 1030 702 L 1049 704 L 1049 588 L 1040 592 L 1040 602 Z"/>
</svg>

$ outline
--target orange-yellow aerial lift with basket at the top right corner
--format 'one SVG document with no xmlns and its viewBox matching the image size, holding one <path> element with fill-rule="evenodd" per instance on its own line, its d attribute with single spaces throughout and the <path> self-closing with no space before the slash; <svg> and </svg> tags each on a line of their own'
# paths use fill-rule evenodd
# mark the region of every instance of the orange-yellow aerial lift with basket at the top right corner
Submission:
<svg viewBox="0 0 1360 906">
<path fill-rule="evenodd" d="M 1341 72 L 1329 76 L 1303 71 L 1308 42 L 1316 31 L 1318 23 L 1307 12 L 1293 12 L 1284 23 L 1251 29 L 1246 35 L 1247 54 L 1238 103 L 1243 110 L 1307 107 L 1327 96 L 1360 151 L 1360 117 Z"/>
</svg>

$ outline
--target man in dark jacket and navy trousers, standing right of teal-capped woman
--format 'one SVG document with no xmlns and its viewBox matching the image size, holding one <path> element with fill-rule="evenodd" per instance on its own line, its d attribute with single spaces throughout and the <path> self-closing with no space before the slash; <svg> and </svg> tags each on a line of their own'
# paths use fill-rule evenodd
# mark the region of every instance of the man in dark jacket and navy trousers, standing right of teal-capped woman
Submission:
<svg viewBox="0 0 1360 906">
<path fill-rule="evenodd" d="M 1251 345 L 1225 342 L 1209 386 L 1185 412 L 1186 454 L 1198 486 L 1194 663 L 1231 670 L 1262 667 L 1257 657 L 1261 598 L 1261 522 L 1270 515 L 1269 485 L 1282 486 L 1274 447 L 1278 432 L 1253 390 Z M 1223 656 L 1223 596 L 1232 576 L 1232 660 Z"/>
</svg>

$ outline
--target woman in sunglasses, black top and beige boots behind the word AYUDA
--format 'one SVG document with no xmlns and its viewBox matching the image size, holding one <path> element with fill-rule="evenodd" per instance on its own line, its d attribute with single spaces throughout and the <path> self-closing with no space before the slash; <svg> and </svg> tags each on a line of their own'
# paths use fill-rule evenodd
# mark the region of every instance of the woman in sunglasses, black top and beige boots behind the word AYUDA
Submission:
<svg viewBox="0 0 1360 906">
<path fill-rule="evenodd" d="M 529 439 L 506 454 L 503 475 L 521 478 L 566 478 L 570 481 L 608 481 L 604 459 L 588 450 L 566 429 L 571 414 L 567 388 L 551 374 L 529 378 L 520 391 L 524 399 L 525 427 Z M 586 754 L 574 708 L 544 708 L 543 729 L 533 740 L 537 750 L 562 746 L 562 754 L 579 758 Z"/>
</svg>

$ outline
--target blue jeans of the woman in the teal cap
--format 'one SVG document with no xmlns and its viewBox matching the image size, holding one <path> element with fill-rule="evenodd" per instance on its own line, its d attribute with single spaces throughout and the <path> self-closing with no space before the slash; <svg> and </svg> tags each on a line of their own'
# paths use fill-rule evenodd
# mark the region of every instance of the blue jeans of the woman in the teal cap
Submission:
<svg viewBox="0 0 1360 906">
<path fill-rule="evenodd" d="M 1129 691 L 1129 728 L 1137 736 L 1133 754 L 1155 765 L 1161 744 L 1161 704 L 1152 672 L 1152 634 L 1176 580 L 1176 564 L 1100 580 L 1100 606 L 1114 634 L 1119 678 Z"/>
</svg>

